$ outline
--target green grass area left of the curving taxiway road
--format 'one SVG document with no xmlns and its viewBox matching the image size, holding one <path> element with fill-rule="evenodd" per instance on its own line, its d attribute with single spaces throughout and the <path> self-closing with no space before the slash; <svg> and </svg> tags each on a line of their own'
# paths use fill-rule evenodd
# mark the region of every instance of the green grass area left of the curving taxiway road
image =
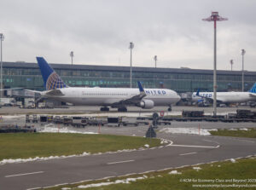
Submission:
<svg viewBox="0 0 256 190">
<path fill-rule="evenodd" d="M 0 134 L 0 160 L 35 158 L 80 153 L 104 153 L 123 149 L 160 146 L 159 139 L 122 135 L 84 135 L 63 133 Z"/>
</svg>

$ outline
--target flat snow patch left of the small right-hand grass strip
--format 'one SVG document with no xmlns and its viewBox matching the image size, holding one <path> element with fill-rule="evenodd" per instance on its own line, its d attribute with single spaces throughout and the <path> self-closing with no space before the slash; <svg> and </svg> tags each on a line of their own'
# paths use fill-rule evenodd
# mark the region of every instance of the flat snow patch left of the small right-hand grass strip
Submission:
<svg viewBox="0 0 256 190">
<path fill-rule="evenodd" d="M 193 135 L 211 135 L 208 130 L 198 128 L 163 128 L 160 132 L 164 133 L 179 133 L 179 134 L 193 134 Z"/>
</svg>

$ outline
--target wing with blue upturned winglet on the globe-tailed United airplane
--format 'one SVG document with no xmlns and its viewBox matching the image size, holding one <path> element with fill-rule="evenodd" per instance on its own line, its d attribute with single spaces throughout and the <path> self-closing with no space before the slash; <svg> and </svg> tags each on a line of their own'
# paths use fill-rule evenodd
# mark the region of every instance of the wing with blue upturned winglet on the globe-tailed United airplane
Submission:
<svg viewBox="0 0 256 190">
<path fill-rule="evenodd" d="M 137 82 L 137 85 L 138 85 L 138 88 L 140 89 L 140 94 L 133 95 L 121 101 L 113 102 L 111 106 L 118 107 L 120 105 L 137 105 L 138 103 L 140 103 L 142 99 L 146 96 L 146 93 L 143 89 L 143 85 L 139 81 Z"/>
</svg>

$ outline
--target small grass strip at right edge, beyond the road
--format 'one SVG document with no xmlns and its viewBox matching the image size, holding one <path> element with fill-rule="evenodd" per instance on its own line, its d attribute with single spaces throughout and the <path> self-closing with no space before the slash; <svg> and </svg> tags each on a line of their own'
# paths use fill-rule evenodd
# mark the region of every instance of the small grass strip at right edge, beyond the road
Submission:
<svg viewBox="0 0 256 190">
<path fill-rule="evenodd" d="M 247 130 L 210 130 L 211 135 L 256 138 L 256 128 Z"/>
</svg>

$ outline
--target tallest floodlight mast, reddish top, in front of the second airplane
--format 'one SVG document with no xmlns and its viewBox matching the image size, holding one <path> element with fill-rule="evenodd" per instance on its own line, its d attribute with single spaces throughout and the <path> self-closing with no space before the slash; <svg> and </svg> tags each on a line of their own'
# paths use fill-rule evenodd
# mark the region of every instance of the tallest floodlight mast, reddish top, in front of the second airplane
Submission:
<svg viewBox="0 0 256 190">
<path fill-rule="evenodd" d="M 204 21 L 214 21 L 214 60 L 213 60 L 213 116 L 217 114 L 217 82 L 216 82 L 216 29 L 217 29 L 217 21 L 228 20 L 227 18 L 222 18 L 218 15 L 218 12 L 212 12 L 212 15 L 207 19 L 202 19 Z"/>
</svg>

